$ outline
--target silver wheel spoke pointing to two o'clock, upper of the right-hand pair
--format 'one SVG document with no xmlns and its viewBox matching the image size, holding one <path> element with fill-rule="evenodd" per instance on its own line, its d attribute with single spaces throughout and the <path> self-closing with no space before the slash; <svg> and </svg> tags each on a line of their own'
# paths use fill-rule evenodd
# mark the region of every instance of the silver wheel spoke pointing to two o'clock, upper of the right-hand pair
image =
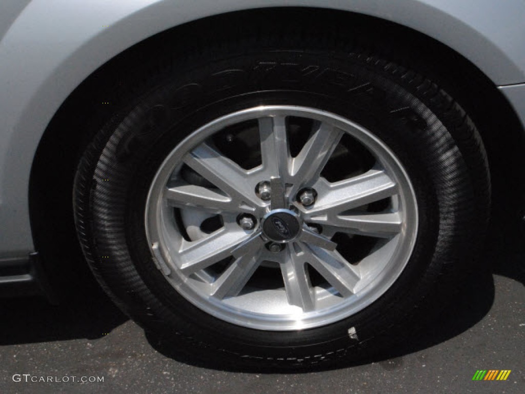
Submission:
<svg viewBox="0 0 525 394">
<path fill-rule="evenodd" d="M 324 223 L 337 220 L 344 211 L 392 197 L 397 186 L 384 171 L 370 170 L 359 177 L 321 185 L 317 190 L 316 205 L 304 217 L 307 222 L 322 224 L 323 220 Z"/>
</svg>

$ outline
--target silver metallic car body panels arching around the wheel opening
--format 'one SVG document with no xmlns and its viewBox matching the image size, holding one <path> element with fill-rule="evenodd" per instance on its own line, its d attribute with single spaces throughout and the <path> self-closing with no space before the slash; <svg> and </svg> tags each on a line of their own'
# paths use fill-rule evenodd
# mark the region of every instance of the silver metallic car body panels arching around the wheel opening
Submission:
<svg viewBox="0 0 525 394">
<path fill-rule="evenodd" d="M 31 163 L 49 121 L 83 80 L 163 30 L 211 15 L 282 6 L 372 15 L 433 37 L 483 71 L 525 123 L 523 0 L 2 0 L 0 263 L 34 251 Z"/>
</svg>

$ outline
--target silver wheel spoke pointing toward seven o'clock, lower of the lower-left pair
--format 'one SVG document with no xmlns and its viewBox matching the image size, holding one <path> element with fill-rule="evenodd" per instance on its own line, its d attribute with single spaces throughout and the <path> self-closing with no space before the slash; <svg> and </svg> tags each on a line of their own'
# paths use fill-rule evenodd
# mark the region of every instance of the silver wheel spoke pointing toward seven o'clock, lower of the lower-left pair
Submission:
<svg viewBox="0 0 525 394">
<path fill-rule="evenodd" d="M 235 297 L 244 288 L 259 266 L 260 250 L 237 258 L 213 283 L 212 296 L 218 299 Z"/>
</svg>

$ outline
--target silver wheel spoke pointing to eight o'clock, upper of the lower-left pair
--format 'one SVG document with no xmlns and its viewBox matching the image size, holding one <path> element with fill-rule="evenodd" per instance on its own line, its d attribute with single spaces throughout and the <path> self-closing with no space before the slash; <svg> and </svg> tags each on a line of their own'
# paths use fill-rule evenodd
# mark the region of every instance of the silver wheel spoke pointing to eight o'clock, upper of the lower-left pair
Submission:
<svg viewBox="0 0 525 394">
<path fill-rule="evenodd" d="M 225 226 L 196 242 L 183 241 L 176 256 L 177 265 L 183 274 L 191 275 L 228 257 L 248 237 L 235 226 Z"/>
</svg>

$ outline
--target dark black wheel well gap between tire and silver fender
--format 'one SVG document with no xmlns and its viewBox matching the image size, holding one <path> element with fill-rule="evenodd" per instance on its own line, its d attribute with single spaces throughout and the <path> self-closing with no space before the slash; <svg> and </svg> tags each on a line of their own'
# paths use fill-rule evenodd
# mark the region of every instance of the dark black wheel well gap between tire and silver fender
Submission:
<svg viewBox="0 0 525 394">
<path fill-rule="evenodd" d="M 147 67 L 158 50 L 170 50 L 176 61 L 176 54 L 190 47 L 206 48 L 211 40 L 227 43 L 232 37 L 250 39 L 252 33 L 264 29 L 283 32 L 286 43 L 285 30 L 290 32 L 304 24 L 312 26 L 312 34 L 329 29 L 334 36 L 352 37 L 358 47 L 417 69 L 455 97 L 484 139 L 495 216 L 505 219 L 506 226 L 508 221 L 518 223 L 525 182 L 511 180 L 504 171 L 523 168 L 523 130 L 505 97 L 476 66 L 436 40 L 385 20 L 328 9 L 265 8 L 205 18 L 145 39 L 93 72 L 65 100 L 39 143 L 29 185 L 34 242 L 48 270 L 59 267 L 62 272 L 64 267 L 77 267 L 74 262 L 82 261 L 72 214 L 72 185 L 83 149 L 111 115 L 111 103 L 103 102 L 117 97 L 115 90 L 127 89 L 119 82 L 120 70 L 137 61 Z M 505 190 L 514 193 L 509 195 Z M 85 275 L 82 269 L 78 272 Z"/>
</svg>

